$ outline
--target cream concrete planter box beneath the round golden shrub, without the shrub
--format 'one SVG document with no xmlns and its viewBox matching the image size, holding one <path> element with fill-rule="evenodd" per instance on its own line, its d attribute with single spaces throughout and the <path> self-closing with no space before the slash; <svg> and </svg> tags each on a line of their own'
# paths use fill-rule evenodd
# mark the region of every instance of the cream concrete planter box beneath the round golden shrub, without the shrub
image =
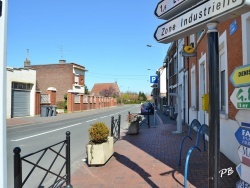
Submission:
<svg viewBox="0 0 250 188">
<path fill-rule="evenodd" d="M 114 153 L 114 139 L 108 137 L 108 141 L 102 144 L 88 144 L 86 149 L 89 165 L 103 165 Z"/>
</svg>

